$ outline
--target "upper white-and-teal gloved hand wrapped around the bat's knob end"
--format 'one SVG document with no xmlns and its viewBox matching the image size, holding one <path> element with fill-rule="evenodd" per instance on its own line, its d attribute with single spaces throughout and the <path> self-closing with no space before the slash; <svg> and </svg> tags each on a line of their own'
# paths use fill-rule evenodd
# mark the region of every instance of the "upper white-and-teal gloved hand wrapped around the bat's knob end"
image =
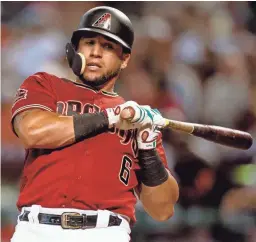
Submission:
<svg viewBox="0 0 256 242">
<path fill-rule="evenodd" d="M 137 129 L 145 125 L 152 125 L 152 116 L 148 114 L 145 108 L 146 106 L 140 106 L 134 101 L 128 101 L 124 104 L 118 105 L 115 108 L 105 109 L 107 114 L 109 127 L 117 127 L 121 130 Z M 147 106 L 150 109 L 149 106 Z M 122 118 L 120 116 L 121 112 L 125 109 L 127 112 L 127 117 Z M 129 113 L 132 110 L 132 113 Z"/>
</svg>

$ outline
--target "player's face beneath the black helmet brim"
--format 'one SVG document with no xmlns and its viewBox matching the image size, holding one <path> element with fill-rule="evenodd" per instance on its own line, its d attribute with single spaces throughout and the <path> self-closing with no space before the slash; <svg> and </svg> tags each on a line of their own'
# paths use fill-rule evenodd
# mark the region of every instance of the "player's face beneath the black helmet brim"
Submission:
<svg viewBox="0 0 256 242">
<path fill-rule="evenodd" d="M 100 82 L 117 77 L 129 61 L 130 54 L 124 54 L 122 46 L 102 35 L 86 36 L 80 39 L 78 52 L 86 58 L 84 79 Z"/>
</svg>

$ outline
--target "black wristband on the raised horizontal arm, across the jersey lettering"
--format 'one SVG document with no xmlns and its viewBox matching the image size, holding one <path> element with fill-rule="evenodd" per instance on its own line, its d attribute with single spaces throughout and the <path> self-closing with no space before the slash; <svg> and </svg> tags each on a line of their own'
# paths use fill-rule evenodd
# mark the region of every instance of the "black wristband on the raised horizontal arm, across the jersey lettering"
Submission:
<svg viewBox="0 0 256 242">
<path fill-rule="evenodd" d="M 76 142 L 108 130 L 108 118 L 103 113 L 85 113 L 73 117 Z"/>
</svg>

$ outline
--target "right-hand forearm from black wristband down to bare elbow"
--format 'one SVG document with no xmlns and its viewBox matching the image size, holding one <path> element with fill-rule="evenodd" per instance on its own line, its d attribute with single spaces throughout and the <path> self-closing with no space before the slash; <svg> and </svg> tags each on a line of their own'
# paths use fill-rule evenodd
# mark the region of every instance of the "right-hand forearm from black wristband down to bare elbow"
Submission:
<svg viewBox="0 0 256 242">
<path fill-rule="evenodd" d="M 178 184 L 164 167 L 155 149 L 139 150 L 138 159 L 142 204 L 151 217 L 164 221 L 174 213 L 174 204 L 179 196 Z"/>
</svg>

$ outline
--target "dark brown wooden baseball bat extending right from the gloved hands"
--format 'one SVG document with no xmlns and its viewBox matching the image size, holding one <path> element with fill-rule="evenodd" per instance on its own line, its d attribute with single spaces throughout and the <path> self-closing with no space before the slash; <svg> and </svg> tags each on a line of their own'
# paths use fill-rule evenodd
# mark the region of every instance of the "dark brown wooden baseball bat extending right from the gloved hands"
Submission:
<svg viewBox="0 0 256 242">
<path fill-rule="evenodd" d="M 166 119 L 165 128 L 183 131 L 208 141 L 243 150 L 249 149 L 253 143 L 252 136 L 249 133 L 220 126 Z"/>
</svg>

